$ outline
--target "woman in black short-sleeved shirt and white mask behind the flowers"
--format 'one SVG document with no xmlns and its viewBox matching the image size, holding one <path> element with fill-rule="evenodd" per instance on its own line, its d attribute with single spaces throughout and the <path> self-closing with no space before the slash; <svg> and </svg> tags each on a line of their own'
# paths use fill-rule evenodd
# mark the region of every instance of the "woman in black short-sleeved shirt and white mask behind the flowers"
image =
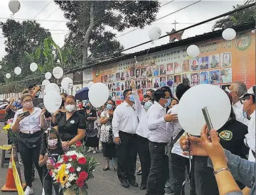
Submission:
<svg viewBox="0 0 256 195">
<path fill-rule="evenodd" d="M 69 150 L 71 145 L 74 145 L 85 137 L 85 121 L 75 111 L 74 96 L 67 96 L 65 110 L 65 113 L 60 112 L 56 116 L 56 124 L 58 125 L 54 128 L 60 133 L 60 139 L 63 141 L 63 150 Z"/>
</svg>

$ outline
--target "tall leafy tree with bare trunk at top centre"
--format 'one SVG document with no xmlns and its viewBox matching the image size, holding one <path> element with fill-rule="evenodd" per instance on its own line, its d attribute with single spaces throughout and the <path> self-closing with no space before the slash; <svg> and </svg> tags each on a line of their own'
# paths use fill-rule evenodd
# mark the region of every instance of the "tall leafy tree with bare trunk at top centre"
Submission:
<svg viewBox="0 0 256 195">
<path fill-rule="evenodd" d="M 55 1 L 63 10 L 70 29 L 65 46 L 77 48 L 82 63 L 91 57 L 104 57 L 123 49 L 115 34 L 125 28 L 140 27 L 156 20 L 157 1 Z"/>
</svg>

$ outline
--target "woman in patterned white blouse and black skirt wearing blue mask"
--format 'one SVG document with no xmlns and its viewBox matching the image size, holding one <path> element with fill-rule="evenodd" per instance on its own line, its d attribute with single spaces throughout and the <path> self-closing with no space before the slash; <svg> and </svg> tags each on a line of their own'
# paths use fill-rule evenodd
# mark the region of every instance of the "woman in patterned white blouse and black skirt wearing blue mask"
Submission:
<svg viewBox="0 0 256 195">
<path fill-rule="evenodd" d="M 116 149 L 113 141 L 112 118 L 115 103 L 113 100 L 107 101 L 105 111 L 100 115 L 100 141 L 102 142 L 103 157 L 106 158 L 107 165 L 103 171 L 110 169 L 110 160 L 114 161 L 114 170 L 117 171 Z"/>
</svg>

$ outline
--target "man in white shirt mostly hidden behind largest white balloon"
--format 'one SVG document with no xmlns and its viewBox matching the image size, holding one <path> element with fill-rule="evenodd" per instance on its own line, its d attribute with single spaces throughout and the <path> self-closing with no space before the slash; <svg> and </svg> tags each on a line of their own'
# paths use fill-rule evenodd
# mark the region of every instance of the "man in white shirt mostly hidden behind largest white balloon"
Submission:
<svg viewBox="0 0 256 195">
<path fill-rule="evenodd" d="M 185 92 L 188 91 L 188 89 L 190 88 L 191 87 L 189 87 L 187 84 L 178 84 L 176 88 L 177 99 L 180 100 L 183 94 L 185 94 Z M 178 104 L 170 108 L 168 113 L 178 114 Z M 183 150 L 181 150 L 181 147 L 179 145 L 179 139 L 183 133 L 183 129 L 181 128 L 181 125 L 178 121 L 166 123 L 166 127 L 174 135 L 172 137 L 174 141 L 171 141 L 171 144 L 168 145 L 168 147 L 171 147 L 169 148 L 169 150 L 171 150 L 171 154 L 169 157 L 169 163 L 170 163 L 169 181 L 171 183 L 171 188 L 174 194 L 184 194 L 183 182 L 186 179 L 185 178 L 186 169 L 189 172 L 190 167 L 189 167 L 189 159 L 187 156 L 182 155 Z M 176 136 L 179 136 L 179 137 L 176 138 Z M 176 139 L 178 140 L 175 142 Z M 195 190 L 196 189 L 193 183 L 191 184 L 190 194 L 195 194 Z"/>
</svg>

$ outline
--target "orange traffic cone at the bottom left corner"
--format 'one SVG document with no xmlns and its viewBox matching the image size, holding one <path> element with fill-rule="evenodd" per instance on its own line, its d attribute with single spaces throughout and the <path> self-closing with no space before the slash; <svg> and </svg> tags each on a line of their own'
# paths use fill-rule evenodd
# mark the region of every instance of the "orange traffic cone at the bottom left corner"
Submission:
<svg viewBox="0 0 256 195">
<path fill-rule="evenodd" d="M 17 191 L 16 188 L 16 184 L 14 182 L 14 172 L 13 172 L 13 167 L 11 165 L 12 162 L 12 158 L 10 158 L 10 162 L 9 162 L 9 167 L 8 167 L 8 171 L 7 171 L 7 176 L 6 176 L 6 184 L 4 184 L 4 186 L 1 188 L 1 191 Z M 19 175 L 20 179 L 21 179 L 21 175 Z M 22 184 L 22 181 L 21 181 Z M 25 186 L 25 184 L 22 185 L 23 187 Z"/>
</svg>

